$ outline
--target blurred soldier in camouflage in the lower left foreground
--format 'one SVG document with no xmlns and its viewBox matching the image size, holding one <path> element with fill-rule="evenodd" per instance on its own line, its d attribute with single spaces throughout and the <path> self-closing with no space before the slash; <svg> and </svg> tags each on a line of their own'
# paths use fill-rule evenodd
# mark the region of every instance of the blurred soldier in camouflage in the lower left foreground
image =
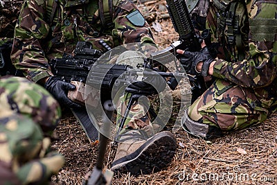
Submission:
<svg viewBox="0 0 277 185">
<path fill-rule="evenodd" d="M 0 184 L 48 184 L 64 164 L 50 149 L 60 105 L 25 78 L 0 78 Z"/>
</svg>

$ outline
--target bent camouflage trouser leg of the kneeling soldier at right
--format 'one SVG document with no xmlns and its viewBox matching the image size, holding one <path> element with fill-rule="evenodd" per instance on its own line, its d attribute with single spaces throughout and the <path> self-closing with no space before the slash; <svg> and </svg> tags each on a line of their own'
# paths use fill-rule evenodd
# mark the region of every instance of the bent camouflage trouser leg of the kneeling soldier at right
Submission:
<svg viewBox="0 0 277 185">
<path fill-rule="evenodd" d="M 222 130 L 237 130 L 265 121 L 269 112 L 260 104 L 253 89 L 217 79 L 190 106 L 188 116 Z"/>
</svg>

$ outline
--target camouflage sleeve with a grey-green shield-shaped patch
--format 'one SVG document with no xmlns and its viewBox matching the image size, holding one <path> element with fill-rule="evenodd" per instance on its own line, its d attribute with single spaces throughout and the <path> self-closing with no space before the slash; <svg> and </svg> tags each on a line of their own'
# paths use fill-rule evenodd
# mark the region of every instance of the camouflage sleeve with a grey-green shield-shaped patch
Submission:
<svg viewBox="0 0 277 185">
<path fill-rule="evenodd" d="M 143 46 L 155 45 L 150 26 L 141 12 L 129 0 L 119 1 L 114 9 L 114 36 L 120 37 L 123 44 L 140 42 Z"/>
</svg>

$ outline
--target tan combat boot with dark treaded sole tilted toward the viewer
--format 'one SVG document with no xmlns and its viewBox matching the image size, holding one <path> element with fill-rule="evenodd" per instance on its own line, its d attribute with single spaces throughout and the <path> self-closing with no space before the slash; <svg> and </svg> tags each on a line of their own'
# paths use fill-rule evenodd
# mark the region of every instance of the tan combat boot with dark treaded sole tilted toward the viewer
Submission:
<svg viewBox="0 0 277 185">
<path fill-rule="evenodd" d="M 141 175 L 158 172 L 170 164 L 177 148 L 175 136 L 164 131 L 149 137 L 150 130 L 149 125 L 120 135 L 111 170 Z"/>
</svg>

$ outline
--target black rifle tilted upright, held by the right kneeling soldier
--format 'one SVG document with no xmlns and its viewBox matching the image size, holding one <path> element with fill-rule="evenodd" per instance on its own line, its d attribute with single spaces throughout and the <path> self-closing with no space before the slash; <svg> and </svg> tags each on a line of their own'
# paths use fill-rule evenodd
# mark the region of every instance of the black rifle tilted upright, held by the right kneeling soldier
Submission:
<svg viewBox="0 0 277 185">
<path fill-rule="evenodd" d="M 175 31 L 179 34 L 179 39 L 173 42 L 166 49 L 152 54 L 153 58 L 166 58 L 168 52 L 173 53 L 178 59 L 181 56 L 176 52 L 177 49 L 185 51 L 199 51 L 203 40 L 206 45 L 211 43 L 211 34 L 209 30 L 204 30 L 202 34 L 195 32 L 193 22 L 190 19 L 188 7 L 184 0 L 166 0 L 167 9 L 170 15 Z M 191 61 L 193 62 L 193 61 Z M 184 69 L 190 69 L 190 64 L 183 64 Z M 206 84 L 202 76 L 188 75 L 192 86 L 192 102 L 206 90 Z"/>
</svg>

